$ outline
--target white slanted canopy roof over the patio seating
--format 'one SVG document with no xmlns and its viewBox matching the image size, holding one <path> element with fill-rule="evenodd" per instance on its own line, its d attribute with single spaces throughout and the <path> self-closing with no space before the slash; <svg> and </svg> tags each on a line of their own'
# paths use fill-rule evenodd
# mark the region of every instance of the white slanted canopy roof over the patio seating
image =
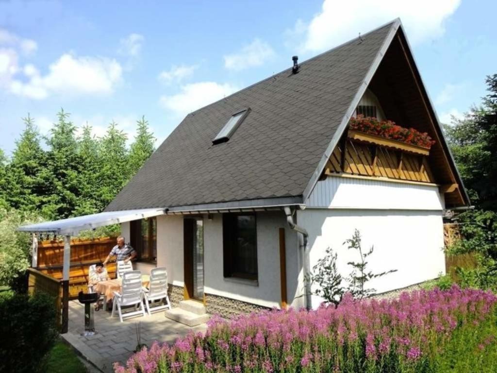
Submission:
<svg viewBox="0 0 497 373">
<path fill-rule="evenodd" d="M 140 210 L 106 211 L 98 214 L 83 215 L 74 218 L 45 221 L 43 223 L 23 225 L 17 228 L 22 232 L 50 232 L 57 235 L 76 236 L 80 231 L 119 224 L 131 220 L 163 215 L 165 208 L 145 208 Z"/>
</svg>

